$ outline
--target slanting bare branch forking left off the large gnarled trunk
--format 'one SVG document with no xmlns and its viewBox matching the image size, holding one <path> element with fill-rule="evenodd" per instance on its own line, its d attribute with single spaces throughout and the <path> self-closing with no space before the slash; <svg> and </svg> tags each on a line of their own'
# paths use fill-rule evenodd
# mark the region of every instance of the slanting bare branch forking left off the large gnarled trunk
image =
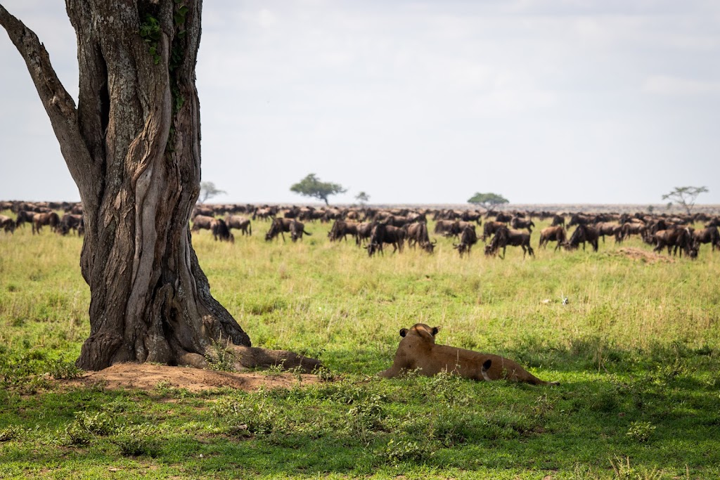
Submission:
<svg viewBox="0 0 720 480">
<path fill-rule="evenodd" d="M 0 25 L 4 27 L 10 41 L 25 60 L 32 83 L 35 84 L 45 112 L 48 112 L 55 137 L 58 137 L 60 142 L 60 151 L 63 153 L 68 170 L 80 190 L 81 199 L 85 201 L 90 195 L 96 197 L 98 189 L 102 186 L 102 180 L 97 175 L 98 172 L 92 168 L 89 150 L 78 128 L 75 101 L 60 83 L 50 63 L 48 50 L 45 50 L 45 46 L 37 39 L 35 32 L 27 28 L 21 20 L 13 17 L 2 5 L 0 5 Z M 86 178 L 88 175 L 94 176 L 94 181 L 81 181 L 81 178 Z"/>
</svg>

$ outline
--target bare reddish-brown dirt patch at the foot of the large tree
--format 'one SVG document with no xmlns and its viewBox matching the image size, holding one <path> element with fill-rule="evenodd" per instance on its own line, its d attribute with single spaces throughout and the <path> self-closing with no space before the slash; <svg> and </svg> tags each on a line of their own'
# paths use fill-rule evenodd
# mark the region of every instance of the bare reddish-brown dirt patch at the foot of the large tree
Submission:
<svg viewBox="0 0 720 480">
<path fill-rule="evenodd" d="M 302 384 L 314 384 L 318 376 L 303 373 Z M 290 389 L 297 385 L 296 373 L 226 372 L 202 370 L 190 367 L 172 367 L 149 363 L 121 363 L 101 371 L 89 371 L 72 380 L 58 380 L 65 386 L 92 387 L 102 385 L 105 389 L 155 390 L 164 387 L 203 391 L 230 387 L 254 391 L 261 386 L 269 389 Z"/>
</svg>

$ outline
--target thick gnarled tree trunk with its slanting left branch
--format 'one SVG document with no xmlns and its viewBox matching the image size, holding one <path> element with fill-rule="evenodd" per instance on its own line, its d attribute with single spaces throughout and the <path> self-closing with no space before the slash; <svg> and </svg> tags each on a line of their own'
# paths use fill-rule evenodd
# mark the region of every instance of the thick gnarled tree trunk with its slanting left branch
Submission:
<svg viewBox="0 0 720 480">
<path fill-rule="evenodd" d="M 201 0 L 66 0 L 78 106 L 37 36 L 0 5 L 80 191 L 90 336 L 77 365 L 202 363 L 248 335 L 210 294 L 188 227 L 200 180 Z"/>
</svg>

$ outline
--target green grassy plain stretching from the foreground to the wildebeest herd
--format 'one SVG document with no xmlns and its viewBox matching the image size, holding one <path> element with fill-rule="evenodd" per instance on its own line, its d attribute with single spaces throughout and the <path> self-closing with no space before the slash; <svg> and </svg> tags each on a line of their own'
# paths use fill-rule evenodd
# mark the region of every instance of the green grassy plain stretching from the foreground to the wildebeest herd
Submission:
<svg viewBox="0 0 720 480">
<path fill-rule="evenodd" d="M 328 243 L 329 225 L 297 244 L 266 243 L 267 225 L 234 245 L 194 237 L 212 293 L 255 345 L 318 356 L 335 381 L 58 388 L 45 373 L 76 375 L 89 331 L 81 240 L 0 233 L 0 478 L 720 477 L 720 253 L 707 245 L 672 263 L 612 240 L 502 261 L 482 243 L 460 259 L 440 238 L 435 255 L 368 258 Z M 561 385 L 374 377 L 415 322 Z"/>
</svg>

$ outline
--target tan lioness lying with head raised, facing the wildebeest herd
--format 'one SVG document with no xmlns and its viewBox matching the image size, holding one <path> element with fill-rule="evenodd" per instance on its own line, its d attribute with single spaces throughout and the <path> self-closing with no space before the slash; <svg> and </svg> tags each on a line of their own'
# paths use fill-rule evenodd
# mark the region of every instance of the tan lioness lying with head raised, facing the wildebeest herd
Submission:
<svg viewBox="0 0 720 480">
<path fill-rule="evenodd" d="M 438 327 L 416 323 L 400 330 L 400 345 L 392 367 L 378 373 L 392 378 L 403 372 L 418 369 L 420 375 L 433 376 L 447 371 L 464 379 L 492 381 L 508 379 L 534 385 L 557 385 L 557 381 L 543 381 L 526 371 L 517 362 L 490 353 L 478 353 L 464 348 L 436 345 Z"/>
</svg>

